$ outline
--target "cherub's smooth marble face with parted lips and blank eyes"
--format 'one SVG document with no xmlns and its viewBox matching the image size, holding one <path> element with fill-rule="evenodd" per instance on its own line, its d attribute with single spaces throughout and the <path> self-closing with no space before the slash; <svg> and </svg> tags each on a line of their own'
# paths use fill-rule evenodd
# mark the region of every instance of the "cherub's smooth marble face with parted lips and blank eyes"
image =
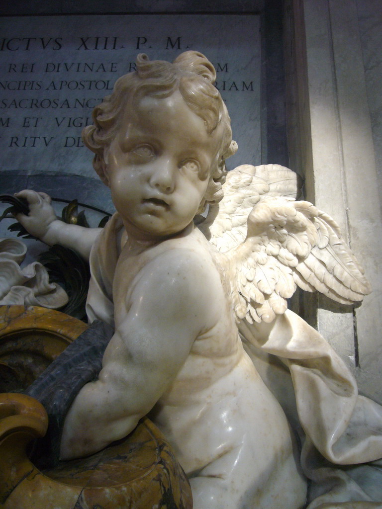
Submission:
<svg viewBox="0 0 382 509">
<path fill-rule="evenodd" d="M 203 201 L 220 129 L 208 134 L 179 92 L 144 97 L 122 115 L 105 156 L 112 199 L 126 230 L 142 240 L 181 232 Z"/>
</svg>

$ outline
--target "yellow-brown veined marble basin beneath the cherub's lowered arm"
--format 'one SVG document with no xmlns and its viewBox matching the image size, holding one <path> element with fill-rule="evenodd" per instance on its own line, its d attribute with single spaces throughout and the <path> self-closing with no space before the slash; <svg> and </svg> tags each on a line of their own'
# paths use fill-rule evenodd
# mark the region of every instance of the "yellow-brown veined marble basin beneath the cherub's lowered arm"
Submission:
<svg viewBox="0 0 382 509">
<path fill-rule="evenodd" d="M 86 328 L 79 320 L 51 310 L 2 307 L 0 373 L 3 369 L 5 375 L 11 369 L 12 383 L 16 385 L 23 379 L 17 356 L 25 359 L 28 354 L 34 358 L 29 364 L 33 369 L 24 377 L 33 378 L 31 373 L 40 371 L 40 361 L 45 364 L 46 359 L 53 360 L 59 353 L 59 344 L 65 348 L 65 344 L 73 341 L 73 335 Z M 75 333 L 71 327 L 73 321 L 79 322 Z M 30 336 L 29 329 L 32 329 Z M 2 509 L 192 508 L 188 480 L 170 445 L 149 419 L 142 419 L 127 438 L 95 455 L 60 462 L 54 469 L 40 471 L 31 463 L 26 450 L 33 438 L 45 434 L 47 423 L 45 409 L 34 398 L 19 393 L 0 394 Z"/>
</svg>

